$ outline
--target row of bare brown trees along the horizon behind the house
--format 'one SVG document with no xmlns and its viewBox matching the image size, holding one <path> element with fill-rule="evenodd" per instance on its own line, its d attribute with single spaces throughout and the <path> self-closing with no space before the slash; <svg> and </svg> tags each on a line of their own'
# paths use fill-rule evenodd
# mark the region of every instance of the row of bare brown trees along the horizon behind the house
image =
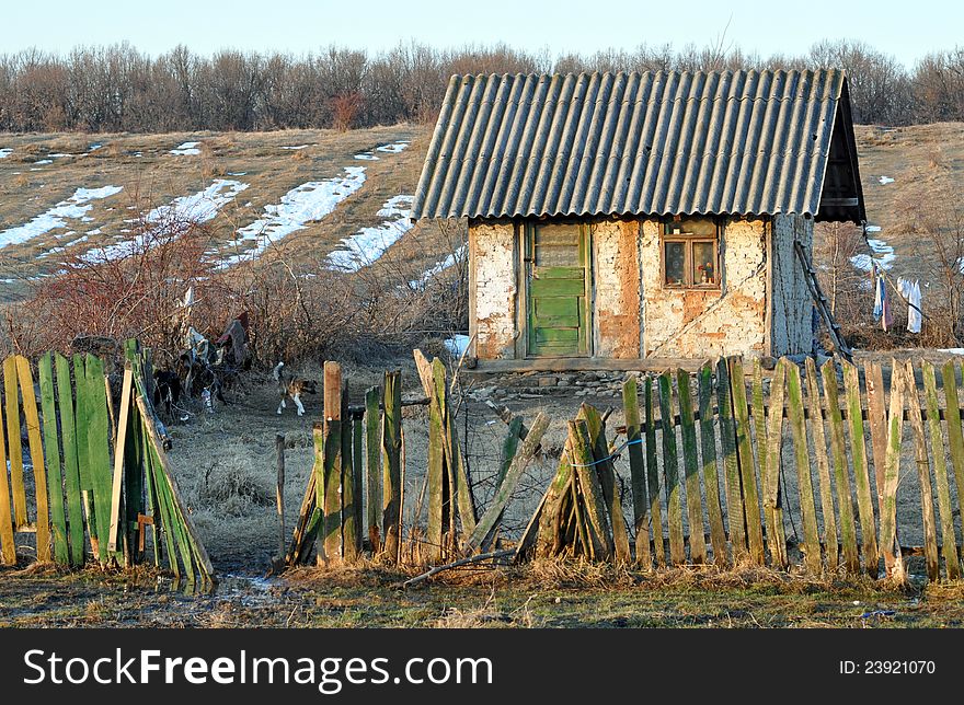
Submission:
<svg viewBox="0 0 964 705">
<path fill-rule="evenodd" d="M 332 46 L 300 56 L 237 49 L 205 56 L 177 46 L 152 57 L 116 44 L 0 55 L 0 131 L 346 129 L 434 119 L 452 73 L 820 67 L 847 70 L 858 123 L 964 120 L 964 47 L 932 51 L 907 69 L 847 39 L 768 58 L 720 45 L 552 57 L 504 45 L 417 43 L 374 55 Z"/>
</svg>

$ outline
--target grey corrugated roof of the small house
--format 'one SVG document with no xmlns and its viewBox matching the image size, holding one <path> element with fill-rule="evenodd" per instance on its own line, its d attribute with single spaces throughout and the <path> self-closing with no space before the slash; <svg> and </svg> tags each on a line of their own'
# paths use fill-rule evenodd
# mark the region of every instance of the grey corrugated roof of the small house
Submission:
<svg viewBox="0 0 964 705">
<path fill-rule="evenodd" d="M 413 217 L 816 216 L 847 101 L 833 69 L 455 76 Z"/>
</svg>

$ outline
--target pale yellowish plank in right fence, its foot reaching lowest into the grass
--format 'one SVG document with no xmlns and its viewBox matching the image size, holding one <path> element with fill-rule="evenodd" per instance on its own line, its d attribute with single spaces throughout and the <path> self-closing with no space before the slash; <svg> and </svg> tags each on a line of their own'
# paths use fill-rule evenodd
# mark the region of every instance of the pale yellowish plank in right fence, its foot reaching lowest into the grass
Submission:
<svg viewBox="0 0 964 705">
<path fill-rule="evenodd" d="M 905 582 L 907 571 L 897 538 L 897 486 L 900 483 L 900 441 L 904 436 L 904 374 L 897 360 L 891 359 L 891 411 L 887 417 L 887 454 L 884 463 L 884 496 L 881 510 L 881 540 L 886 575 Z"/>
</svg>

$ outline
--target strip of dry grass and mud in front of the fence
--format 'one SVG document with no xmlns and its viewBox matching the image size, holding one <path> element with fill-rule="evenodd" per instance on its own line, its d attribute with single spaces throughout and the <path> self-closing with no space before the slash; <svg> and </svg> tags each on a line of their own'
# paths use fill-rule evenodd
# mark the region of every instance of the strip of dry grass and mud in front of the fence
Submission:
<svg viewBox="0 0 964 705">
<path fill-rule="evenodd" d="M 221 577 L 186 596 L 149 571 L 0 574 L 0 625 L 27 627 L 961 627 L 960 586 L 887 589 L 769 570 L 654 575 L 536 565 L 402 591 L 380 568 Z"/>
</svg>

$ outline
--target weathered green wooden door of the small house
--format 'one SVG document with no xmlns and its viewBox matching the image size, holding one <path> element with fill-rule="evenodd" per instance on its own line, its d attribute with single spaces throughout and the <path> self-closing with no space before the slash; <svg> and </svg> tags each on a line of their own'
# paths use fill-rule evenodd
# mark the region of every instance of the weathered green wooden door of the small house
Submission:
<svg viewBox="0 0 964 705">
<path fill-rule="evenodd" d="M 588 243 L 585 228 L 576 223 L 530 226 L 526 233 L 526 265 L 528 355 L 588 355 Z"/>
</svg>

